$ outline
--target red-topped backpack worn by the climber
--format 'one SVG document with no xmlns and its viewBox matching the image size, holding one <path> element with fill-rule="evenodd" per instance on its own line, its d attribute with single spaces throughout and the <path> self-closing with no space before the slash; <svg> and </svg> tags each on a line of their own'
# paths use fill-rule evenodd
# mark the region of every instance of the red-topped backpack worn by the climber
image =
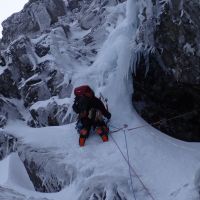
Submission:
<svg viewBox="0 0 200 200">
<path fill-rule="evenodd" d="M 74 89 L 74 104 L 72 106 L 76 113 L 88 111 L 90 100 L 95 96 L 93 90 L 88 85 L 83 85 Z"/>
</svg>

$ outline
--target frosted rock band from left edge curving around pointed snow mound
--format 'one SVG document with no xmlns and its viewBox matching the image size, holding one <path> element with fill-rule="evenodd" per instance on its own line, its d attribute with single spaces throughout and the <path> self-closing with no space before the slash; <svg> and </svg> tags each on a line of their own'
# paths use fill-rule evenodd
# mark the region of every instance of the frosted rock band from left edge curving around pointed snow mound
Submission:
<svg viewBox="0 0 200 200">
<path fill-rule="evenodd" d="M 76 178 L 76 168 L 70 164 L 61 163 L 60 155 L 54 155 L 50 149 L 27 146 L 20 139 L 6 132 L 0 132 L 0 160 L 12 152 L 18 153 L 36 191 L 58 192 Z M 5 188 L 2 190 L 6 192 Z M 10 194 L 11 190 L 7 192 Z M 0 197 L 6 194 L 0 193 Z M 17 196 L 17 193 L 13 193 L 13 195 Z"/>
</svg>

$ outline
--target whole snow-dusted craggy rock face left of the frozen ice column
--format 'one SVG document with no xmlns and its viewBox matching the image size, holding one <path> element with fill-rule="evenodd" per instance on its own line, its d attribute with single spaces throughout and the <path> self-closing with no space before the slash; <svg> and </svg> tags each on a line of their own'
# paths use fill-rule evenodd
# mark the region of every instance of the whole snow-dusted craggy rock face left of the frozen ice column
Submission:
<svg viewBox="0 0 200 200">
<path fill-rule="evenodd" d="M 17 102 L 10 108 L 18 115 L 10 118 L 8 106 L 2 104 L 0 127 L 9 119 L 22 119 L 20 112 L 32 127 L 74 119 L 68 109 L 72 75 L 78 66 L 94 62 L 102 42 L 125 13 L 124 6 L 107 7 L 120 7 L 122 2 L 31 0 L 3 22 L 0 46 L 6 65 L 0 66 L 0 94 L 9 104 Z"/>
</svg>

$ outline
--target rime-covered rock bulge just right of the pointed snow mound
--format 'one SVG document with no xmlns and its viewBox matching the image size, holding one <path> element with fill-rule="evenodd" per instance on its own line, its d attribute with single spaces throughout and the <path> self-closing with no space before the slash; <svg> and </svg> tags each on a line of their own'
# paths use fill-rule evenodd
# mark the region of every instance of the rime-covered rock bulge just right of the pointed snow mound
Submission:
<svg viewBox="0 0 200 200">
<path fill-rule="evenodd" d="M 49 149 L 20 145 L 18 153 L 38 192 L 59 192 L 76 178 L 76 168 L 61 163 L 60 156 Z"/>
</svg>

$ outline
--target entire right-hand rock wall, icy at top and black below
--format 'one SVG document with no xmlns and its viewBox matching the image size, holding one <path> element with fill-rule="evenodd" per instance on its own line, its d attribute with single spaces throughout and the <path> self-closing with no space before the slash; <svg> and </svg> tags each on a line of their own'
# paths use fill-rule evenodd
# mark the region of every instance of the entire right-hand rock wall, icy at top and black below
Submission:
<svg viewBox="0 0 200 200">
<path fill-rule="evenodd" d="M 134 64 L 133 104 L 148 122 L 163 119 L 156 126 L 163 132 L 200 141 L 200 2 L 151 1 L 148 6 L 136 40 L 140 59 Z"/>
</svg>

